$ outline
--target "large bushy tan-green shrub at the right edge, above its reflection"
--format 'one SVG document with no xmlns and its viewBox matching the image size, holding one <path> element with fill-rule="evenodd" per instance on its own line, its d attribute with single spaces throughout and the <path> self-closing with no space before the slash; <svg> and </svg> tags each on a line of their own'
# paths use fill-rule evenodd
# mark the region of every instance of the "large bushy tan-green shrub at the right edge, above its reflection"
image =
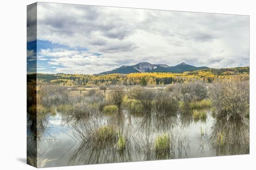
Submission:
<svg viewBox="0 0 256 170">
<path fill-rule="evenodd" d="M 210 88 L 216 117 L 243 119 L 249 113 L 249 81 L 225 80 Z"/>
</svg>

